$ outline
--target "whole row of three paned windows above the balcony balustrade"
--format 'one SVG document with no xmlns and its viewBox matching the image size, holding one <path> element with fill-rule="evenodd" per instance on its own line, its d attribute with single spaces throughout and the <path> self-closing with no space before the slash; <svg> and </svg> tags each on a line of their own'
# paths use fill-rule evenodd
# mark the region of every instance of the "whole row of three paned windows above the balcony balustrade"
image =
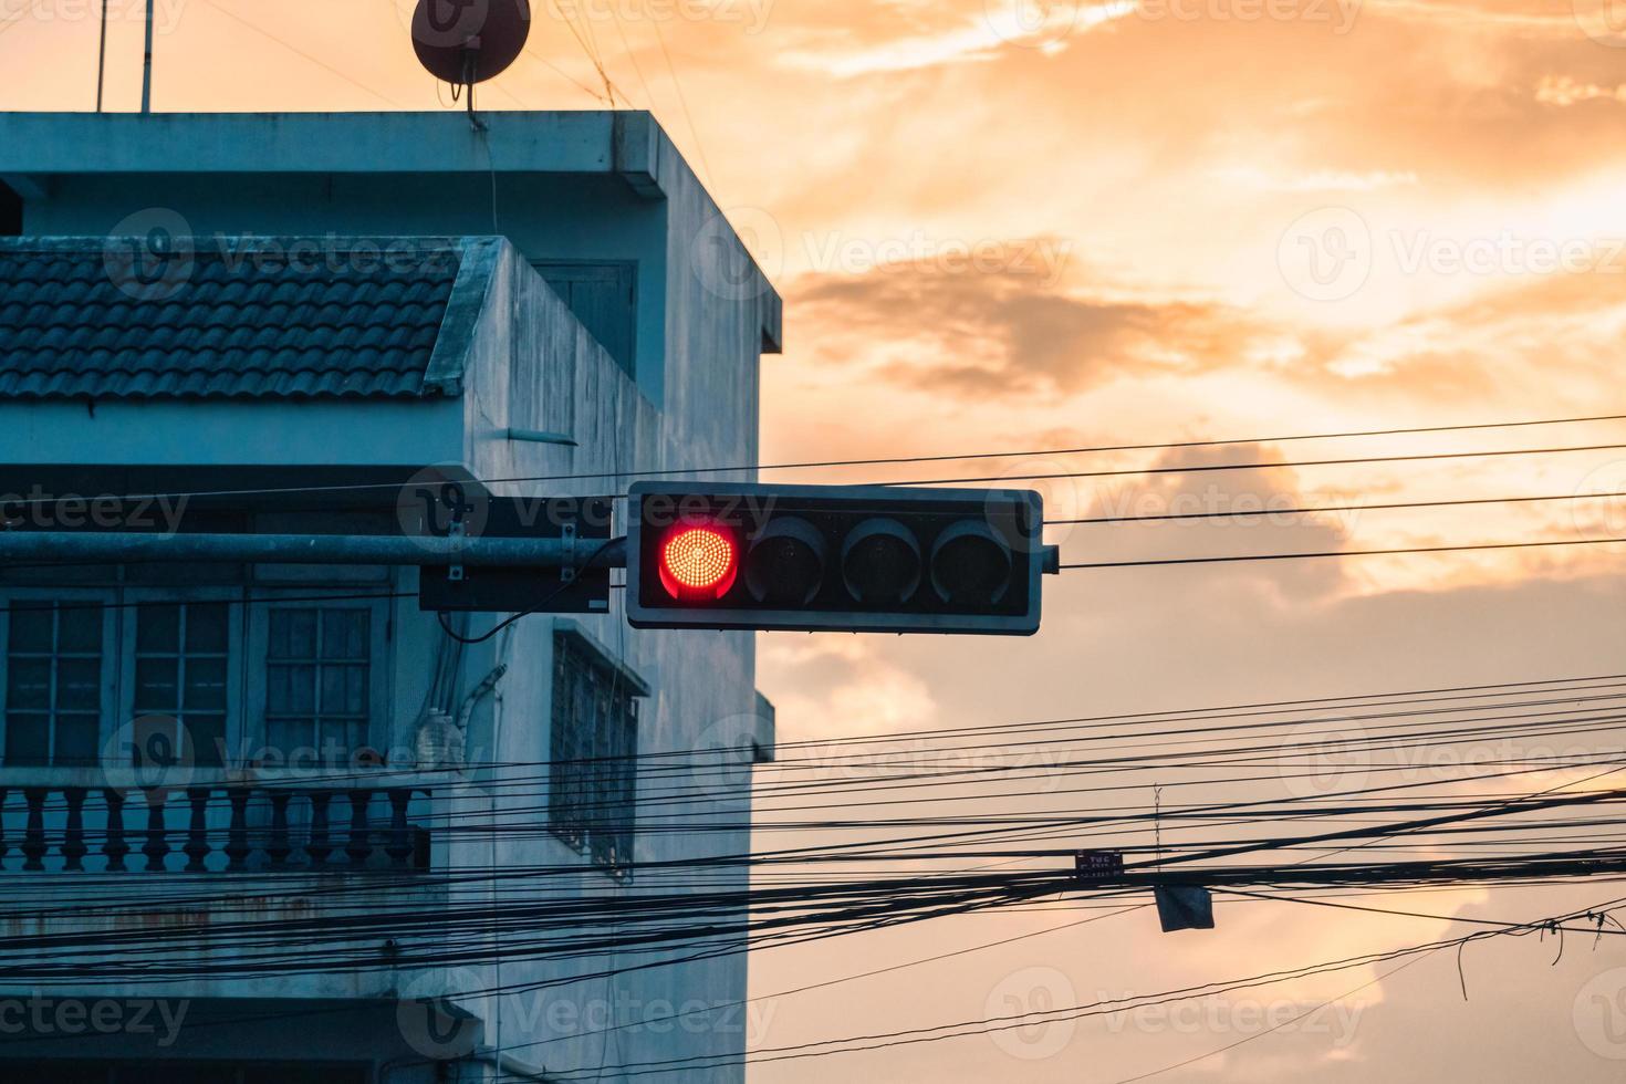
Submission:
<svg viewBox="0 0 1626 1084">
<path fill-rule="evenodd" d="M 120 756 L 145 762 L 350 762 L 387 715 L 387 605 L 239 600 L 226 587 L 0 595 L 3 762 L 94 765 L 130 738 L 140 748 Z"/>
</svg>

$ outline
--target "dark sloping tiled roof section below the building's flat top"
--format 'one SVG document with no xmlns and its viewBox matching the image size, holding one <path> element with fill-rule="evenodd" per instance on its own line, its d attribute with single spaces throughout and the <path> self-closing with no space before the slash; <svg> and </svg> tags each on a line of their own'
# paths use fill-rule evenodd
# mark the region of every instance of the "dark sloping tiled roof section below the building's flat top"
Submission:
<svg viewBox="0 0 1626 1084">
<path fill-rule="evenodd" d="M 460 281 L 465 242 L 291 244 L 198 237 L 153 255 L 146 239 L 0 241 L 0 397 L 457 392 L 431 362 L 462 356 L 441 341 L 463 323 L 446 320 L 465 307 L 454 294 L 485 293 Z"/>
</svg>

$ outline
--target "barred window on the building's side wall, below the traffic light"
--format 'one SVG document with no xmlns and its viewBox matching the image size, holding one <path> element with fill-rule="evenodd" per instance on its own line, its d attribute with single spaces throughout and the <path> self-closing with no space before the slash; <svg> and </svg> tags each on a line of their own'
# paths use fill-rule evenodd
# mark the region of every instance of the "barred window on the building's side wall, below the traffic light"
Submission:
<svg viewBox="0 0 1626 1084">
<path fill-rule="evenodd" d="M 637 697 L 649 687 L 582 632 L 553 637 L 548 822 L 608 869 L 633 861 Z"/>
</svg>

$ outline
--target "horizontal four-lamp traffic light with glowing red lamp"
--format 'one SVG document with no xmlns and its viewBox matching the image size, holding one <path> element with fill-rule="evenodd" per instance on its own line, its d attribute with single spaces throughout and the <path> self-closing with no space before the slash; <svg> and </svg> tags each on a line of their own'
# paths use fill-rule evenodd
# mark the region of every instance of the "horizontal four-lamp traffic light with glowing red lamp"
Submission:
<svg viewBox="0 0 1626 1084">
<path fill-rule="evenodd" d="M 639 483 L 639 629 L 1039 629 L 1044 505 L 1018 489 Z"/>
</svg>

